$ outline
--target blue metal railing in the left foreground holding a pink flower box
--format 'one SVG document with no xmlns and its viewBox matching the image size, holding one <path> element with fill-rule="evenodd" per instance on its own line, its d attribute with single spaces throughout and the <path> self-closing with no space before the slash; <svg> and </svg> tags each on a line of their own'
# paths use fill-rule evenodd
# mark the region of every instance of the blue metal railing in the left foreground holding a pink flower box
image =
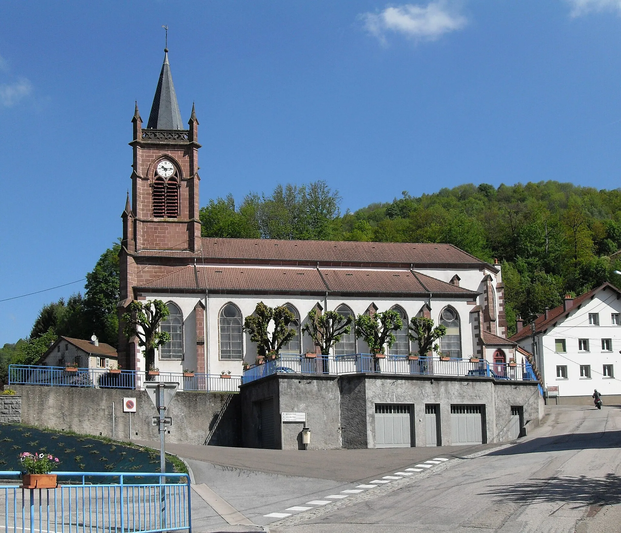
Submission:
<svg viewBox="0 0 621 533">
<path fill-rule="evenodd" d="M 4 511 L 4 533 L 192 531 L 190 480 L 186 474 L 55 474 L 59 483 L 63 478 L 76 476 L 81 476 L 82 483 L 58 485 L 50 489 L 25 489 L 17 485 L 22 475 L 20 472 L 0 471 L 3 480 L 17 478 L 14 485 L 0 485 L 0 516 Z M 114 476 L 119 478 L 119 483 L 90 485 L 84 483 L 85 476 Z M 136 482 L 140 478 L 153 476 L 160 482 Z M 127 483 L 128 478 L 133 482 Z M 167 482 L 171 478 L 176 482 Z"/>
</svg>

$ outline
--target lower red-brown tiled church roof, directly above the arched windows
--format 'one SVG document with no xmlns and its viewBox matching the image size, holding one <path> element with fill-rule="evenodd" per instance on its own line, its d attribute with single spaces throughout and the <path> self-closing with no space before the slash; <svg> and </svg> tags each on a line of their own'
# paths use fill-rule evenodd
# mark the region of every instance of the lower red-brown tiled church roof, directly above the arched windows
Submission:
<svg viewBox="0 0 621 533">
<path fill-rule="evenodd" d="M 409 270 L 292 268 L 253 266 L 184 266 L 143 287 L 156 291 L 209 290 L 323 294 L 420 294 L 474 298 L 478 293 Z"/>
</svg>

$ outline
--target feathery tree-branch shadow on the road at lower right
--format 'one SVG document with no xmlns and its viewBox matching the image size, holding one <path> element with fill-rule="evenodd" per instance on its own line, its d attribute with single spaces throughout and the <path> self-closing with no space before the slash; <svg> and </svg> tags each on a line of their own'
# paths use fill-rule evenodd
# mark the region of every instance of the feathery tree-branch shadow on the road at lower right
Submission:
<svg viewBox="0 0 621 533">
<path fill-rule="evenodd" d="M 608 474 L 605 478 L 560 477 L 530 480 L 517 485 L 492 486 L 483 493 L 502 503 L 533 504 L 551 502 L 592 505 L 605 502 L 621 503 L 621 477 Z"/>
</svg>

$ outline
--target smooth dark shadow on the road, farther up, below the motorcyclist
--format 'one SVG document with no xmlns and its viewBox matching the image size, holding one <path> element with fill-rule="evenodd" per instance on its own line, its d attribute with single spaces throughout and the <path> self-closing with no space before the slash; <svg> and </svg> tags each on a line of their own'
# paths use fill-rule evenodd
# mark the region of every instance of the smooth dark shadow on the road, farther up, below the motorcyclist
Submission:
<svg viewBox="0 0 621 533">
<path fill-rule="evenodd" d="M 597 433 L 574 433 L 554 435 L 553 437 L 538 437 L 491 452 L 489 455 L 519 455 L 520 453 L 561 452 L 563 450 L 587 450 L 619 448 L 621 445 L 621 430 Z"/>
</svg>

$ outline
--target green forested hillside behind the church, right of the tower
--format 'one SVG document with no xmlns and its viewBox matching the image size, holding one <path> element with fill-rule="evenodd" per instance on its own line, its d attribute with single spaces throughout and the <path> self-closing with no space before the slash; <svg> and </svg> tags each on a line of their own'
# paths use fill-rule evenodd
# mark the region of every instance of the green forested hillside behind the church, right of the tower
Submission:
<svg viewBox="0 0 621 533">
<path fill-rule="evenodd" d="M 621 190 L 571 183 L 482 183 L 340 213 L 341 198 L 323 181 L 278 186 L 269 196 L 232 196 L 201 209 L 206 237 L 265 237 L 395 242 L 447 242 L 502 263 L 507 320 L 530 321 L 545 307 L 611 281 L 621 267 Z"/>
</svg>

